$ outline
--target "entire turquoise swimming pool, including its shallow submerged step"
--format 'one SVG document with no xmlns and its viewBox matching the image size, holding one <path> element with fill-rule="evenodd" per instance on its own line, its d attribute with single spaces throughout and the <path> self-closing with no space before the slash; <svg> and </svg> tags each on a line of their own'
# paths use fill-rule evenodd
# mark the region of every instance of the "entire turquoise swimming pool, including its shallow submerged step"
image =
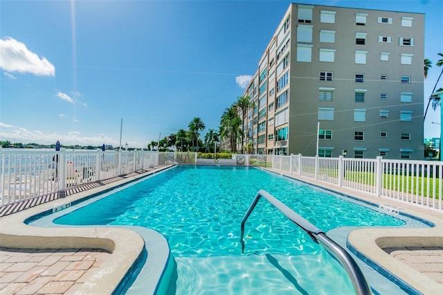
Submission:
<svg viewBox="0 0 443 295">
<path fill-rule="evenodd" d="M 239 225 L 260 189 L 323 231 L 407 226 L 404 219 L 287 177 L 257 168 L 210 166 L 167 170 L 54 222 L 159 231 L 177 262 L 177 285 L 172 288 L 177 294 L 353 294 L 343 267 L 266 202 L 260 201 L 246 222 L 242 254 Z"/>
</svg>

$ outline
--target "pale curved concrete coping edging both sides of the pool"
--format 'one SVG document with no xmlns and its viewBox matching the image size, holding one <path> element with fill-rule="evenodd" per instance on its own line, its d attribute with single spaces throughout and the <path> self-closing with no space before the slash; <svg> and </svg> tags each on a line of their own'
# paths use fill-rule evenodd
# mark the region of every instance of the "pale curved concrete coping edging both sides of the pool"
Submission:
<svg viewBox="0 0 443 295">
<path fill-rule="evenodd" d="M 78 294 L 112 294 L 120 282 L 125 278 L 128 271 L 132 269 L 134 263 L 142 255 L 145 244 L 149 246 L 150 241 L 144 240 L 141 235 L 132 229 L 109 226 L 91 226 L 82 228 L 69 228 L 69 232 L 62 228 L 41 228 L 28 226 L 26 220 L 35 215 L 42 215 L 45 211 L 69 206 L 71 202 L 87 198 L 91 195 L 98 195 L 103 191 L 111 190 L 136 181 L 156 172 L 160 172 L 172 166 L 156 168 L 150 172 L 127 177 L 118 181 L 92 188 L 81 193 L 70 195 L 64 199 L 28 208 L 24 211 L 0 217 L 0 247 L 24 248 L 24 249 L 70 249 L 70 248 L 96 248 L 112 253 L 111 259 L 103 263 L 94 274 L 76 291 Z M 277 170 L 264 169 L 270 172 L 284 175 L 298 181 L 311 184 L 334 193 L 355 197 L 356 199 L 376 204 L 377 206 L 394 206 L 399 208 L 402 214 L 418 217 L 421 220 L 428 220 L 434 226 L 429 229 L 356 229 L 348 236 L 348 244 L 352 251 L 362 253 L 363 258 L 372 261 L 379 267 L 388 271 L 400 280 L 406 282 L 410 287 L 417 289 L 423 294 L 442 294 L 443 287 L 428 278 L 419 271 L 406 265 L 404 262 L 390 256 L 385 248 L 392 247 L 438 247 L 443 244 L 443 213 L 430 208 L 419 208 L 405 202 L 400 202 L 385 197 L 375 197 L 374 195 L 361 193 L 347 188 L 338 188 L 319 181 L 297 177 L 282 173 Z M 152 244 L 152 243 L 151 243 Z M 156 245 L 158 247 L 158 245 Z M 161 248 L 161 247 L 160 247 Z M 168 251 L 169 247 L 163 249 Z M 168 261 L 161 261 L 159 264 L 167 265 Z M 151 282 L 161 278 L 164 267 L 156 274 L 152 274 Z M 154 271 L 155 272 L 155 271 Z M 146 290 L 147 291 L 147 290 Z M 154 292 L 153 292 L 154 293 Z"/>
</svg>

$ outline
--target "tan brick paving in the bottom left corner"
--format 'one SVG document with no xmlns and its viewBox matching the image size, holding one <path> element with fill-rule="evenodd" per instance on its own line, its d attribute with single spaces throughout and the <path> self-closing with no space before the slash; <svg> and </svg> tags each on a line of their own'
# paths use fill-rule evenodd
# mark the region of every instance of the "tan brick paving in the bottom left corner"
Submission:
<svg viewBox="0 0 443 295">
<path fill-rule="evenodd" d="M 0 247 L 0 294 L 72 294 L 109 258 L 100 249 Z"/>
</svg>

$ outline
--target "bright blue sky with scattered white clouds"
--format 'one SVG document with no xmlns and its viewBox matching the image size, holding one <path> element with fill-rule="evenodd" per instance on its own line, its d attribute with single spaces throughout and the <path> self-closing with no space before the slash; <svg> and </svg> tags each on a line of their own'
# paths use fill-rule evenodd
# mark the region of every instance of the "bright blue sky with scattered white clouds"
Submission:
<svg viewBox="0 0 443 295">
<path fill-rule="evenodd" d="M 0 141 L 116 147 L 121 129 L 122 145 L 146 147 L 195 117 L 203 138 L 244 93 L 290 3 L 0 0 Z M 425 13 L 427 102 L 442 71 L 443 1 L 298 3 Z M 440 137 L 432 122 L 440 108 L 426 138 Z"/>
</svg>

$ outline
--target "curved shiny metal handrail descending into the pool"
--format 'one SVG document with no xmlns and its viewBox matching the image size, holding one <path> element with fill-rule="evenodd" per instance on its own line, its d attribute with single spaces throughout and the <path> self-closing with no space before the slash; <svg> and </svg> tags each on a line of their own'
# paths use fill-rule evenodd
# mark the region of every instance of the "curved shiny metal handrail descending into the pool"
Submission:
<svg viewBox="0 0 443 295">
<path fill-rule="evenodd" d="M 341 265 L 345 267 L 346 272 L 348 276 L 350 276 L 350 279 L 352 280 L 352 285 L 354 285 L 355 291 L 357 294 L 366 295 L 366 294 L 372 294 L 370 286 L 368 285 L 368 282 L 365 279 L 365 276 L 363 276 L 363 272 L 361 272 L 361 269 L 356 264 L 354 258 L 350 256 L 350 253 L 347 253 L 343 247 L 341 247 L 339 244 L 334 242 L 331 238 L 329 238 L 326 233 L 318 229 L 314 224 L 311 224 L 305 218 L 301 217 L 297 213 L 291 210 L 288 206 L 280 202 L 278 199 L 273 197 L 273 195 L 266 192 L 266 190 L 259 190 L 257 195 L 255 196 L 251 206 L 249 206 L 248 211 L 243 217 L 242 220 L 242 233 L 240 236 L 240 243 L 242 244 L 242 253 L 244 253 L 244 224 L 246 223 L 246 220 L 248 219 L 249 215 L 251 215 L 252 211 L 255 208 L 255 205 L 257 205 L 258 201 L 260 201 L 260 198 L 264 197 L 267 199 L 275 208 L 277 208 L 280 212 L 282 212 L 286 217 L 291 220 L 291 222 L 297 224 L 300 229 L 305 231 L 314 242 L 321 244 L 323 247 L 329 251 L 333 256 L 335 256 L 338 261 L 341 262 Z"/>
</svg>

